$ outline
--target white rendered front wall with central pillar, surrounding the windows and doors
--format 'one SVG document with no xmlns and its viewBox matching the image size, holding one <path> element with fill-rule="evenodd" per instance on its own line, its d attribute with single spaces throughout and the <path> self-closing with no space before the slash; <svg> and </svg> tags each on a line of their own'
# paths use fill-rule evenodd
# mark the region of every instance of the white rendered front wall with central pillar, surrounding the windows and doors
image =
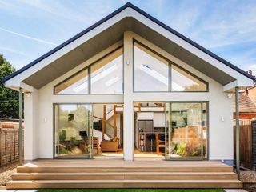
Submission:
<svg viewBox="0 0 256 192">
<path fill-rule="evenodd" d="M 223 86 L 205 74 L 194 70 L 178 58 L 159 49 L 132 32 L 124 34 L 124 95 L 54 95 L 53 87 L 63 79 L 81 70 L 92 60 L 82 63 L 73 70 L 55 79 L 38 90 L 38 158 L 53 158 L 53 103 L 124 103 L 124 158 L 134 159 L 134 112 L 133 102 L 206 101 L 209 102 L 209 158 L 233 159 L 233 100 L 223 92 Z M 146 44 L 179 66 L 186 68 L 209 83 L 209 92 L 203 93 L 133 93 L 133 51 L 132 38 Z M 99 55 L 100 56 L 100 55 Z M 95 59 L 97 57 L 94 57 Z M 127 64 L 129 63 L 129 64 Z M 46 121 L 45 121 L 46 120 Z M 224 120 L 224 121 L 222 121 Z"/>
</svg>

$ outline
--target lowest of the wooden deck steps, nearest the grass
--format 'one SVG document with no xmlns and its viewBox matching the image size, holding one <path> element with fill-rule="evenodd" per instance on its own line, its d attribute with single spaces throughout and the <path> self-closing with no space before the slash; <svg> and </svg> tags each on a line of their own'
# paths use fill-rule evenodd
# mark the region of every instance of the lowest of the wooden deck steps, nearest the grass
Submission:
<svg viewBox="0 0 256 192">
<path fill-rule="evenodd" d="M 40 188 L 242 188 L 238 180 L 25 180 L 7 189 Z"/>
</svg>

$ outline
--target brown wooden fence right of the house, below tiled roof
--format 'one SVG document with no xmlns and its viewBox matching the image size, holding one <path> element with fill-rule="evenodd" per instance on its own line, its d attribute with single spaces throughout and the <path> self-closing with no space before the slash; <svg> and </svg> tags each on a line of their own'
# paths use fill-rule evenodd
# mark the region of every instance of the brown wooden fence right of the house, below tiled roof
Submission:
<svg viewBox="0 0 256 192">
<path fill-rule="evenodd" d="M 240 166 L 246 167 L 250 170 L 255 169 L 253 153 L 255 152 L 253 149 L 253 131 L 250 120 L 240 120 L 239 121 L 239 133 L 240 133 Z M 236 126 L 234 122 L 234 165 L 236 161 Z"/>
</svg>

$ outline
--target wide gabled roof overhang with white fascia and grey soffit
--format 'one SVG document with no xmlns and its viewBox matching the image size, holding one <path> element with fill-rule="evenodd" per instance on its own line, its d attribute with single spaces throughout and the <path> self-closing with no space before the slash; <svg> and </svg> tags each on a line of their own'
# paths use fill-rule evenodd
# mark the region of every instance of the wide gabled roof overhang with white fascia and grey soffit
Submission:
<svg viewBox="0 0 256 192">
<path fill-rule="evenodd" d="M 232 91 L 235 86 L 252 86 L 255 78 L 219 58 L 162 22 L 127 3 L 106 18 L 70 38 L 49 53 L 5 78 L 6 86 L 26 85 L 36 89 L 122 40 L 126 30 L 134 31 L 174 57 L 186 62 Z"/>
</svg>

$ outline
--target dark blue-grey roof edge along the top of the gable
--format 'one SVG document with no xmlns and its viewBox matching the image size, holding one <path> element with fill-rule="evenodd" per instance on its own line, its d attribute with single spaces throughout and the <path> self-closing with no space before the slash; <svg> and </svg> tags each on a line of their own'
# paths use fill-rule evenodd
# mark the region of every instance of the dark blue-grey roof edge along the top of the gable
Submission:
<svg viewBox="0 0 256 192">
<path fill-rule="evenodd" d="M 96 22 L 93 26 L 90 26 L 86 30 L 83 30 L 81 33 L 75 35 L 73 38 L 70 38 L 66 42 L 63 42 L 60 46 L 57 46 L 53 50 L 50 50 L 48 53 L 42 55 L 40 58 L 37 58 L 36 60 L 34 60 L 34 62 L 30 62 L 30 64 L 28 64 L 27 66 L 22 67 L 22 69 L 20 69 L 20 70 L 17 70 L 16 72 L 14 72 L 14 74 L 10 74 L 10 76 L 3 79 L 3 82 L 6 82 L 6 81 L 10 80 L 11 78 L 14 78 L 18 74 L 22 74 L 22 72 L 30 69 L 30 67 L 32 67 L 32 66 L 35 66 L 36 64 L 38 64 L 38 62 L 42 62 L 42 60 L 50 57 L 50 55 L 58 52 L 58 50 L 62 50 L 62 48 L 64 48 L 65 46 L 70 45 L 70 43 L 76 41 L 78 38 L 81 38 L 83 35 L 88 34 L 91 30 L 94 30 L 96 27 L 101 26 L 104 22 L 110 20 L 111 18 L 114 18 L 114 16 L 120 14 L 123 10 L 126 10 L 126 8 L 131 8 L 131 9 L 137 11 L 139 14 L 142 14 L 146 18 L 150 19 L 150 21 L 158 24 L 158 26 L 161 26 L 165 30 L 168 30 L 171 34 L 174 34 L 174 35 L 178 36 L 178 38 L 181 38 L 182 40 L 188 42 L 190 45 L 196 47 L 198 50 L 202 50 L 202 52 L 204 52 L 205 54 L 208 54 L 208 55 L 210 55 L 210 57 L 218 60 L 218 62 L 222 62 L 226 66 L 228 66 L 231 69 L 237 71 L 239 74 L 244 75 L 246 78 L 250 78 L 252 80 L 255 80 L 255 78 L 253 76 L 251 76 L 250 74 L 247 74 L 244 70 L 241 70 L 237 66 L 234 66 L 233 64 L 231 64 L 230 62 L 227 62 L 225 59 L 218 57 L 216 54 L 213 54 L 212 52 L 210 52 L 210 50 L 206 50 L 204 47 L 199 46 L 196 42 L 193 42 L 189 38 L 186 38 L 184 35 L 179 34 L 176 30 L 173 30 L 169 26 L 166 26 L 164 23 L 158 21 L 156 18 L 150 16 L 150 14 L 147 14 L 145 11 L 139 9 L 137 6 L 134 6 L 130 2 L 127 2 L 124 6 L 120 7 L 118 10 L 115 10 L 112 14 L 109 14 L 108 16 L 106 16 L 106 18 L 102 18 L 102 20 L 100 20 L 99 22 Z M 216 71 L 216 73 L 218 73 L 218 75 L 221 75 L 224 72 L 223 71 Z M 227 73 L 226 75 L 228 76 L 229 74 Z M 218 78 L 216 78 L 216 80 L 218 81 Z M 233 81 L 232 78 L 230 78 L 230 81 L 226 80 L 223 83 L 225 84 L 225 83 L 228 83 L 228 82 L 231 82 L 231 81 Z"/>
</svg>

